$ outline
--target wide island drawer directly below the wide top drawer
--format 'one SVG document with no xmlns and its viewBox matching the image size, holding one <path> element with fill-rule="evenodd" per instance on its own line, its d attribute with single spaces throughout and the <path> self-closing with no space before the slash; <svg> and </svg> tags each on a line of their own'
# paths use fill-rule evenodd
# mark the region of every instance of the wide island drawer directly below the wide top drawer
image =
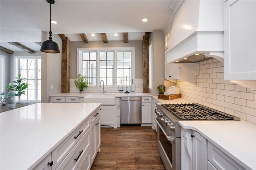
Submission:
<svg viewBox="0 0 256 170">
<path fill-rule="evenodd" d="M 87 130 L 82 136 L 75 147 L 58 166 L 57 170 L 77 170 L 88 150 L 90 150 L 90 130 Z"/>
</svg>

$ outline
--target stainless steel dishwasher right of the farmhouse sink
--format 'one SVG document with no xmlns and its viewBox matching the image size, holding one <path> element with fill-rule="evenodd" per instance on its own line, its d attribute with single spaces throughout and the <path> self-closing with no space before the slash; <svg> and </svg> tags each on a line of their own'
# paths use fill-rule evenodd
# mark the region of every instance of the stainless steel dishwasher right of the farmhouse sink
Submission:
<svg viewBox="0 0 256 170">
<path fill-rule="evenodd" d="M 120 98 L 120 126 L 141 125 L 141 97 Z"/>
</svg>

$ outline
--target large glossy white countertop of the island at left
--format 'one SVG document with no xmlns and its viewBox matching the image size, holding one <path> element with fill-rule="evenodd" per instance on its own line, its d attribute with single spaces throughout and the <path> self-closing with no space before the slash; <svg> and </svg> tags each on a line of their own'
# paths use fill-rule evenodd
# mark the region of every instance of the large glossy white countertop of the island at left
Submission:
<svg viewBox="0 0 256 170">
<path fill-rule="evenodd" d="M 0 169 L 33 168 L 100 103 L 37 103 L 0 113 Z"/>
</svg>

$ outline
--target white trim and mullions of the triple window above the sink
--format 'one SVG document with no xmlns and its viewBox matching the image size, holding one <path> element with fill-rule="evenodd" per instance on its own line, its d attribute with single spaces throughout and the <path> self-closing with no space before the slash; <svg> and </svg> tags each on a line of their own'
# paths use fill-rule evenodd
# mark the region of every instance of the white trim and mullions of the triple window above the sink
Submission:
<svg viewBox="0 0 256 170">
<path fill-rule="evenodd" d="M 86 51 L 86 52 L 94 52 L 94 51 L 97 51 L 97 52 L 106 52 L 106 51 L 114 51 L 114 55 L 116 56 L 116 52 L 119 52 L 119 51 L 131 51 L 132 53 L 132 61 L 131 61 L 131 64 L 132 64 L 132 79 L 135 79 L 135 47 L 88 47 L 88 48 L 77 48 L 77 75 L 78 74 L 82 74 L 82 53 L 83 51 Z M 97 65 L 99 64 L 98 63 L 98 59 L 97 59 Z M 116 69 L 116 59 L 114 60 L 114 67 Z M 98 87 L 99 86 L 99 83 L 98 82 L 98 77 L 99 77 L 99 73 L 98 73 L 98 69 L 96 69 L 96 86 L 88 86 L 88 89 L 89 90 L 100 90 L 102 89 L 102 87 Z M 114 75 L 114 78 L 115 78 L 115 81 L 116 81 L 116 71 L 115 71 L 115 75 Z M 116 85 L 116 82 L 114 82 L 115 86 L 107 86 L 107 89 L 108 90 L 118 90 L 118 85 Z"/>
</svg>

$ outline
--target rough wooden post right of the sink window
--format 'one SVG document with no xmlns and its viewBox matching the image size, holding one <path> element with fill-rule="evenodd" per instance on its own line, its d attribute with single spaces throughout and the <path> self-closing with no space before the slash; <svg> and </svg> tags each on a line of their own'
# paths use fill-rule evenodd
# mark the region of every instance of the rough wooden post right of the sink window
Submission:
<svg viewBox="0 0 256 170">
<path fill-rule="evenodd" d="M 150 32 L 146 32 L 145 36 L 143 36 L 142 40 L 142 55 L 143 55 L 143 93 L 149 93 L 148 89 L 148 45 L 149 45 L 149 37 L 150 37 Z"/>
</svg>

